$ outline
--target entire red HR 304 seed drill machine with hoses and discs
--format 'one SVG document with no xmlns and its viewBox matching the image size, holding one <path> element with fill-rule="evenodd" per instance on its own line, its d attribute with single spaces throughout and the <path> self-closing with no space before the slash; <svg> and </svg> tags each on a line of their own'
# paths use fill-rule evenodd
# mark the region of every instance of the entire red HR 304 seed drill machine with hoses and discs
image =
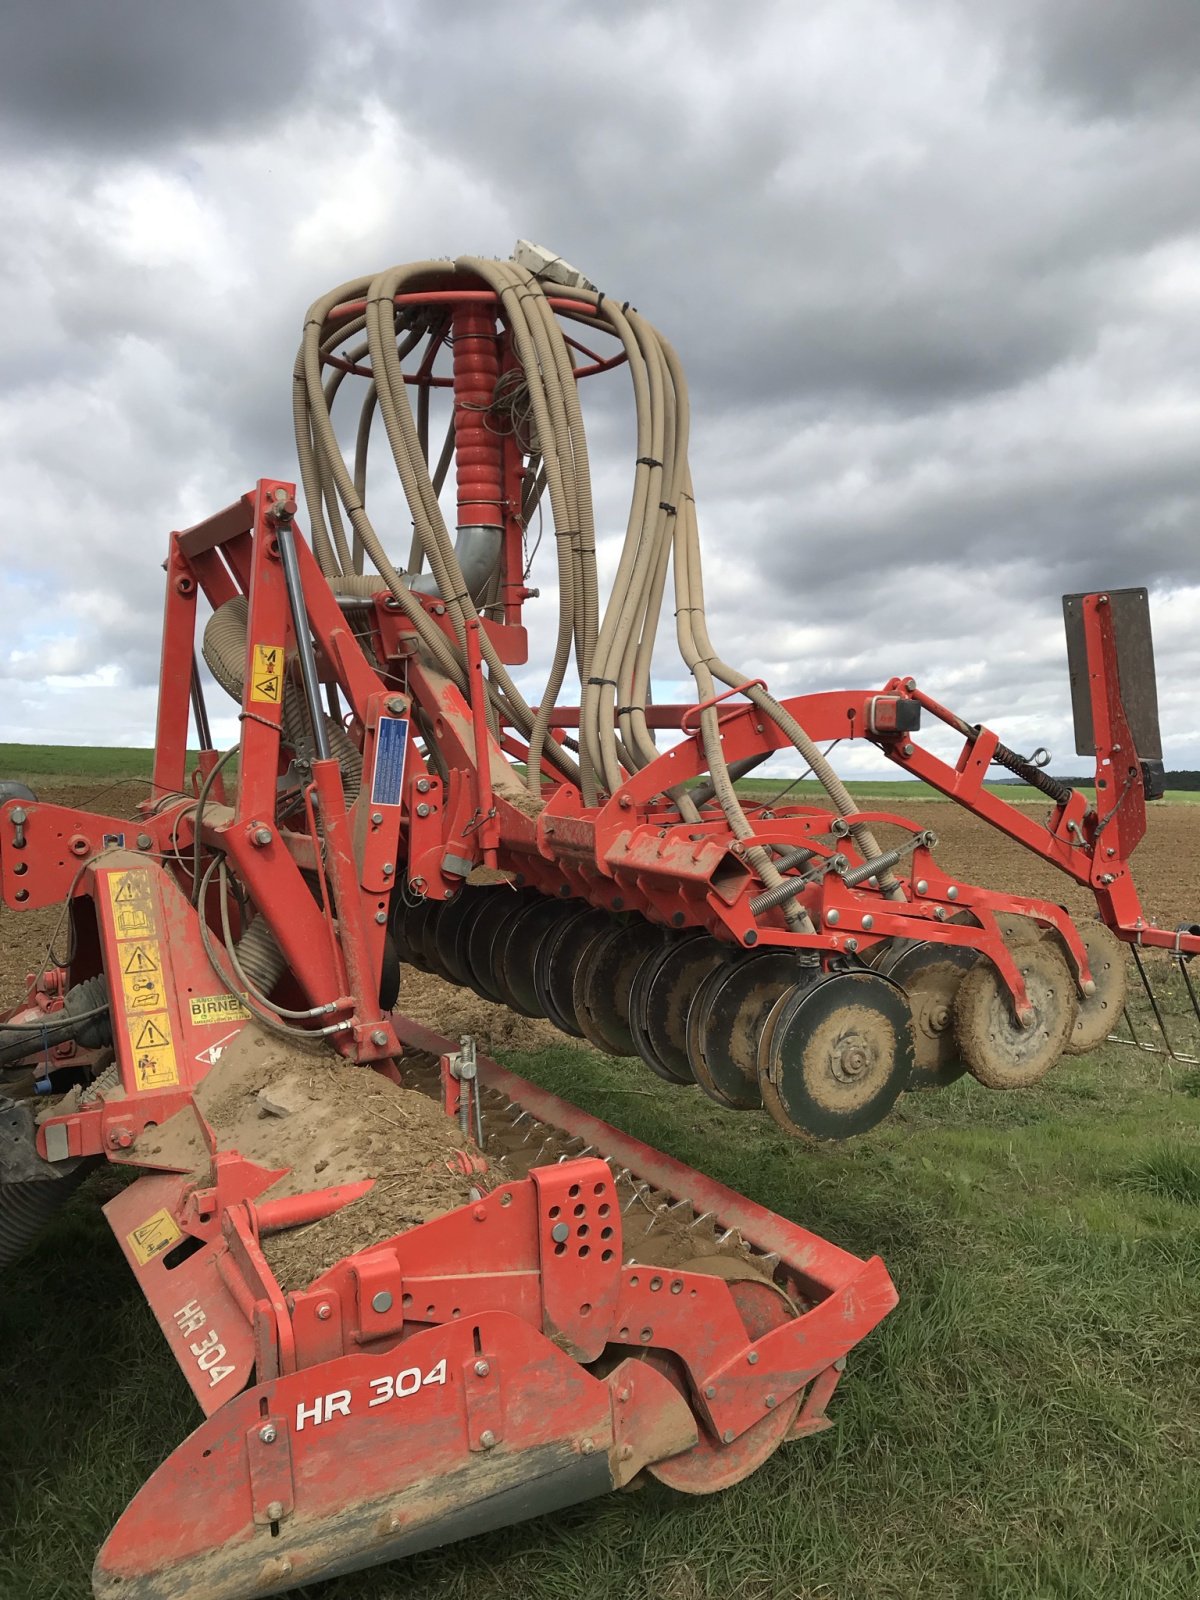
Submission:
<svg viewBox="0 0 1200 1600">
<path fill-rule="evenodd" d="M 579 384 L 622 365 L 634 490 L 602 603 Z M 718 656 L 678 358 L 542 251 L 326 294 L 294 408 L 307 538 L 277 480 L 171 534 L 136 819 L 0 805 L 5 907 L 59 906 L 66 944 L 0 1024 L 0 1245 L 94 1162 L 136 1170 L 107 1218 L 205 1418 L 99 1554 L 122 1600 L 278 1594 L 643 1472 L 720 1490 L 827 1426 L 896 1301 L 878 1259 L 406 1021 L 406 966 L 837 1139 L 963 1070 L 1037 1082 L 1110 1032 L 1123 944 L 1184 971 L 1200 950 L 1130 874 L 1162 771 L 1136 594 L 1067 608 L 1093 803 L 912 678 L 776 699 Z M 542 501 L 534 706 L 514 669 Z M 667 592 L 688 704 L 651 698 Z M 238 707 L 224 754 L 202 597 Z M 958 882 L 928 829 L 858 811 L 821 750 L 851 739 L 1088 885 L 1101 920 Z M 821 805 L 739 789 L 779 750 Z M 992 763 L 1045 821 L 984 787 Z"/>
</svg>

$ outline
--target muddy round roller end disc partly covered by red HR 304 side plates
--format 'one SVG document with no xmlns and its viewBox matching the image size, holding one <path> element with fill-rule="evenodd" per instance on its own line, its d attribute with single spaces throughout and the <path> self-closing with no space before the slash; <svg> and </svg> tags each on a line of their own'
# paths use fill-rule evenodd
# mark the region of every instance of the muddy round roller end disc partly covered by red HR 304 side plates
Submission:
<svg viewBox="0 0 1200 1600">
<path fill-rule="evenodd" d="M 733 1304 L 738 1307 L 738 1315 L 750 1339 L 762 1339 L 763 1334 L 781 1328 L 797 1314 L 787 1294 L 776 1283 L 755 1272 L 749 1264 L 733 1261 L 728 1256 L 688 1261 L 680 1270 L 707 1272 L 723 1278 L 730 1285 Z M 686 1371 L 675 1355 L 669 1355 L 666 1350 L 646 1350 L 643 1360 L 658 1366 L 694 1405 Z M 741 1483 L 742 1478 L 757 1472 L 787 1438 L 800 1410 L 800 1395 L 798 1389 L 790 1395 L 781 1395 L 778 1405 L 763 1410 L 763 1414 L 744 1434 L 728 1443 L 717 1438 L 704 1419 L 698 1416 L 698 1442 L 690 1450 L 680 1451 L 678 1456 L 650 1462 L 646 1472 L 682 1494 L 714 1494 L 717 1490 Z"/>
</svg>

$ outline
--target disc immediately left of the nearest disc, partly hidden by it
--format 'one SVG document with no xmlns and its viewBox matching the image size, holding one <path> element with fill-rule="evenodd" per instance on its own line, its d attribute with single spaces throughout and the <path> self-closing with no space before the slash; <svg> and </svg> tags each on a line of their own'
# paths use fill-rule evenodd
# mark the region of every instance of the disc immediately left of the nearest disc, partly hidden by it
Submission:
<svg viewBox="0 0 1200 1600">
<path fill-rule="evenodd" d="M 810 978 L 787 950 L 762 950 L 715 968 L 688 1011 L 688 1061 L 718 1106 L 757 1110 L 758 1040 L 779 995 Z"/>
</svg>

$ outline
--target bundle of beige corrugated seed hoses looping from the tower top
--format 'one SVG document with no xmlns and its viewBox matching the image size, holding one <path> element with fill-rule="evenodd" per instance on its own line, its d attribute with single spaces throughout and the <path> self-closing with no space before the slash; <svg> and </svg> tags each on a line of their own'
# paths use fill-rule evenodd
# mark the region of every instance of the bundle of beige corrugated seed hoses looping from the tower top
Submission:
<svg viewBox="0 0 1200 1600">
<path fill-rule="evenodd" d="M 709 638 L 704 584 L 701 574 L 699 528 L 688 467 L 690 403 L 683 368 L 675 350 L 629 304 L 613 301 L 592 288 L 563 283 L 542 285 L 515 261 L 464 256 L 458 261 L 418 261 L 389 267 L 373 277 L 341 283 L 309 309 L 294 366 L 296 450 L 307 502 L 312 546 L 322 571 L 334 592 L 365 594 L 386 587 L 413 624 L 422 658 L 451 682 L 466 686 L 466 626 L 478 616 L 480 603 L 494 600 L 494 584 L 469 592 L 456 542 L 438 504 L 453 453 L 453 422 L 435 470 L 429 467 L 429 408 L 421 400 L 418 416 L 408 400 L 403 362 L 422 346 L 446 336 L 448 314 L 429 306 L 397 306 L 397 296 L 429 290 L 474 290 L 485 283 L 499 301 L 499 314 L 512 334 L 518 370 L 506 371 L 496 386 L 490 426 L 515 429 L 530 458 L 523 518 L 536 509 L 542 493 L 549 498 L 554 547 L 558 566 L 558 626 L 546 688 L 534 714 L 496 656 L 486 634 L 480 643 L 490 675 L 493 720 L 502 714 L 528 739 L 526 798 L 523 810 L 541 802 L 541 765 L 549 760 L 563 778 L 578 782 L 584 803 L 597 805 L 630 771 L 653 762 L 659 750 L 646 720 L 651 658 L 667 592 L 674 581 L 675 638 L 685 667 L 696 685 L 696 699 L 707 701 L 720 688 L 744 683 L 747 674 L 723 661 Z M 560 310 L 547 299 L 555 296 Z M 578 310 L 562 309 L 574 301 Z M 358 302 L 360 310 L 334 317 L 336 307 Z M 637 419 L 634 486 L 626 534 L 606 598 L 600 597 L 595 560 L 595 514 L 587 458 L 587 438 L 573 373 L 573 355 L 560 317 L 614 334 L 624 349 L 634 386 Z M 362 371 L 370 360 L 370 379 L 355 426 L 354 466 L 347 464 L 334 430 L 331 406 L 342 390 L 344 365 Z M 424 394 L 424 390 L 422 390 Z M 394 565 L 384 539 L 366 512 L 368 453 L 371 426 L 382 422 L 392 466 L 403 486 L 413 520 L 408 570 Z M 347 534 L 349 528 L 349 534 Z M 363 576 L 371 562 L 379 579 Z M 429 566 L 424 590 L 437 586 L 446 605 L 453 640 L 426 613 L 411 584 Z M 205 658 L 232 694 L 242 694 L 245 669 L 245 602 L 229 602 L 210 622 Z M 558 694 L 574 667 L 581 683 L 578 763 L 562 744 L 549 738 Z M 763 717 L 770 718 L 813 770 L 832 808 L 848 819 L 859 853 L 880 854 L 866 824 L 856 824 L 856 805 L 808 733 L 765 690 L 747 690 Z M 290 714 L 285 701 L 288 738 L 301 738 L 302 707 Z M 718 710 L 699 717 L 701 738 L 712 790 L 736 838 L 749 838 L 754 827 L 742 810 L 722 750 Z M 350 741 L 331 723 L 334 754 L 344 771 L 352 766 Z M 352 746 L 350 746 L 352 749 Z M 355 752 L 357 754 L 357 752 Z M 349 771 L 347 771 L 349 778 Z M 514 778 L 514 786 L 515 786 Z M 504 790 L 514 798 L 512 790 Z M 696 819 L 696 806 L 685 789 L 672 790 L 680 814 Z M 766 888 L 784 878 L 771 853 L 747 850 L 747 859 Z M 883 888 L 901 890 L 883 875 Z M 784 902 L 794 928 L 811 926 L 806 914 Z"/>
</svg>

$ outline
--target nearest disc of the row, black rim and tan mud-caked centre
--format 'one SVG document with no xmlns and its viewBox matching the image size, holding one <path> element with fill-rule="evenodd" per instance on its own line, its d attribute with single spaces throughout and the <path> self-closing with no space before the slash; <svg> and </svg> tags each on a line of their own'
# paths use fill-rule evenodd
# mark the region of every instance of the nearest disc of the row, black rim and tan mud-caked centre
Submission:
<svg viewBox="0 0 1200 1600">
<path fill-rule="evenodd" d="M 794 1136 L 866 1133 L 909 1086 L 909 1002 L 880 973 L 830 973 L 778 1002 L 768 1022 L 758 1086 L 763 1106 Z"/>
</svg>

